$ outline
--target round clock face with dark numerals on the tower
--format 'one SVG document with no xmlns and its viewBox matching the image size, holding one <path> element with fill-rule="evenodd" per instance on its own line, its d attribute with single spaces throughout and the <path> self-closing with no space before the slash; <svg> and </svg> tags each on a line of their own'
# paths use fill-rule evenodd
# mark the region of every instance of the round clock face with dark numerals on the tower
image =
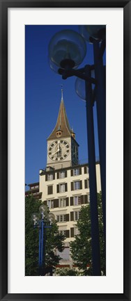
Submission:
<svg viewBox="0 0 131 301">
<path fill-rule="evenodd" d="M 66 140 L 55 140 L 48 147 L 48 156 L 53 161 L 62 161 L 70 153 L 70 145 Z"/>
</svg>

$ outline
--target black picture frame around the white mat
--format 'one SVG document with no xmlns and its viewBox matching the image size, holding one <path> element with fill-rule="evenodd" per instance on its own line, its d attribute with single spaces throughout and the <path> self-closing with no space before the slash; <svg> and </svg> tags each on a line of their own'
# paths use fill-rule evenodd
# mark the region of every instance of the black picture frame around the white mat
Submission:
<svg viewBox="0 0 131 301">
<path fill-rule="evenodd" d="M 120 293 L 8 294 L 8 8 L 123 8 L 124 13 L 124 289 Z M 131 1 L 0 0 L 0 300 L 131 300 L 130 294 L 130 44 Z M 121 63 L 121 62 L 120 62 Z M 117 80 L 117 74 L 116 74 Z M 120 263 L 121 264 L 121 263 Z M 117 279 L 116 279 L 117 281 Z"/>
</svg>

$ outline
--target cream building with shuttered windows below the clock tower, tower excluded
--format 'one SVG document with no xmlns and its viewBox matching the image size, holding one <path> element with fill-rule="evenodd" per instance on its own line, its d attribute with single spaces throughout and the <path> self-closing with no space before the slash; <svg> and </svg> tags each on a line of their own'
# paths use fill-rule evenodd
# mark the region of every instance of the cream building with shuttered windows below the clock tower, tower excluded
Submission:
<svg viewBox="0 0 131 301">
<path fill-rule="evenodd" d="M 99 193 L 101 190 L 99 163 L 96 164 L 96 179 Z M 43 172 L 40 174 L 40 192 L 42 201 L 55 215 L 59 231 L 66 236 L 66 249 L 61 253 L 60 265 L 72 266 L 70 241 L 75 240 L 75 235 L 79 234 L 77 220 L 81 207 L 90 202 L 88 164 Z"/>
</svg>

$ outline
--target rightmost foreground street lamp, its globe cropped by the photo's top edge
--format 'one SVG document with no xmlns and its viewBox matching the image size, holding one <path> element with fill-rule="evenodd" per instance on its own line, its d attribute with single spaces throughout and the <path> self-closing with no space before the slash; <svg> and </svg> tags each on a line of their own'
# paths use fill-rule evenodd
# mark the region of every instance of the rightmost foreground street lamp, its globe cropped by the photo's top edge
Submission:
<svg viewBox="0 0 131 301">
<path fill-rule="evenodd" d="M 97 81 L 95 96 L 98 117 L 102 213 L 106 250 L 106 69 L 102 59 L 106 47 L 106 29 L 105 25 L 84 25 L 79 26 L 79 32 L 87 42 L 93 43 L 95 79 Z M 90 38 L 88 38 L 89 35 Z"/>
</svg>

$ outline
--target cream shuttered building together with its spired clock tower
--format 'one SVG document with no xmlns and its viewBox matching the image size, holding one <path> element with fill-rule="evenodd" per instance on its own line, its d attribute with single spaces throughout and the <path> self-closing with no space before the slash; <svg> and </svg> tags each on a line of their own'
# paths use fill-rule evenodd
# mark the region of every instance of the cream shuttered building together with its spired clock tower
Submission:
<svg viewBox="0 0 131 301">
<path fill-rule="evenodd" d="M 70 129 L 61 90 L 56 126 L 47 138 L 47 166 L 40 170 L 41 200 L 54 213 L 59 231 L 66 236 L 61 266 L 72 266 L 70 241 L 78 234 L 81 206 L 90 202 L 88 163 L 79 165 L 79 144 Z M 97 190 L 100 192 L 100 164 L 96 163 Z"/>
</svg>

